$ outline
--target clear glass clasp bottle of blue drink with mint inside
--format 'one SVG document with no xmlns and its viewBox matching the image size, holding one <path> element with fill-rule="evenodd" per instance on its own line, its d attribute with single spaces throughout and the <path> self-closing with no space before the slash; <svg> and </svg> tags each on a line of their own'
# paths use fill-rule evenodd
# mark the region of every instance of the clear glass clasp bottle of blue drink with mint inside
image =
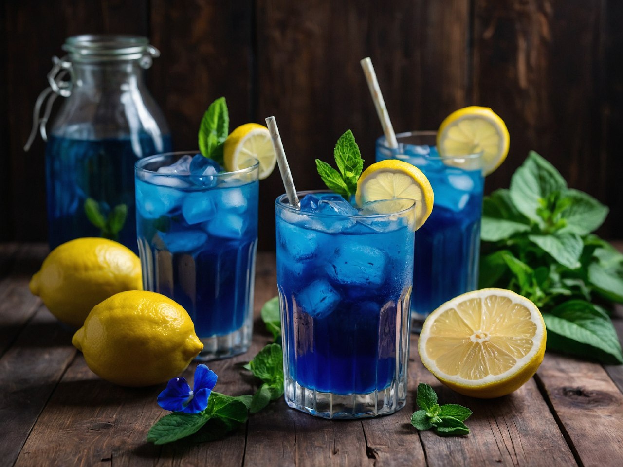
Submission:
<svg viewBox="0 0 623 467">
<path fill-rule="evenodd" d="M 143 80 L 159 52 L 133 35 L 77 35 L 62 48 L 68 54 L 54 58 L 50 88 L 36 108 L 38 115 L 45 97 L 52 97 L 39 119 L 47 141 L 50 248 L 102 236 L 136 252 L 134 164 L 171 150 L 168 125 Z M 57 95 L 66 99 L 46 132 Z"/>
</svg>

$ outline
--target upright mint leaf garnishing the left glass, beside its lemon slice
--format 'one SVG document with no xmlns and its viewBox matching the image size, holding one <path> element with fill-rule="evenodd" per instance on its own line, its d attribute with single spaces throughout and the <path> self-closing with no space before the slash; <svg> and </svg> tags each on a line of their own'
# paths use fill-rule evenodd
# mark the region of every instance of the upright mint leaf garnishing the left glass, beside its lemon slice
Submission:
<svg viewBox="0 0 623 467">
<path fill-rule="evenodd" d="M 206 158 L 223 162 L 223 144 L 229 135 L 229 111 L 224 97 L 219 97 L 207 108 L 199 125 L 199 150 Z"/>
</svg>

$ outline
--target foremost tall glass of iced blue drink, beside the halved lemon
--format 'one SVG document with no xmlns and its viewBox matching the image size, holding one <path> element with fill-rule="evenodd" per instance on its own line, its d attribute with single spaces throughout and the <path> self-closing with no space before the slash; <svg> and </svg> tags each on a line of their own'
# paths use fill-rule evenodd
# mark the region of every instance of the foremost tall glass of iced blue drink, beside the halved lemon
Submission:
<svg viewBox="0 0 623 467">
<path fill-rule="evenodd" d="M 374 417 L 406 403 L 412 200 L 357 209 L 333 192 L 277 198 L 277 285 L 285 400 L 324 418 Z M 389 212 L 389 214 L 376 214 Z"/>
</svg>

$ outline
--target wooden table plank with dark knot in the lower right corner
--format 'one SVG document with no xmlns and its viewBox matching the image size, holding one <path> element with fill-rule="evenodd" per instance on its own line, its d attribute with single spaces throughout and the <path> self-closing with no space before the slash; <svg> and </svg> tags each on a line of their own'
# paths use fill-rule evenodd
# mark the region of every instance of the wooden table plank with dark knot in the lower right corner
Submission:
<svg viewBox="0 0 623 467">
<path fill-rule="evenodd" d="M 537 375 L 581 464 L 620 465 L 623 394 L 606 371 L 599 364 L 546 354 Z"/>
</svg>

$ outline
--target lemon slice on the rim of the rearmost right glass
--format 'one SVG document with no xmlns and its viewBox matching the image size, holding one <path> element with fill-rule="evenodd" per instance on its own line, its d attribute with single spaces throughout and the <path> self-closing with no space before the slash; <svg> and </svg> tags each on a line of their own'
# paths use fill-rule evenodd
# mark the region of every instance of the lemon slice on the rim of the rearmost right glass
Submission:
<svg viewBox="0 0 623 467">
<path fill-rule="evenodd" d="M 506 159 L 510 137 L 502 118 L 488 107 L 470 106 L 452 112 L 437 130 L 437 150 L 442 156 L 483 156 L 488 175 Z M 452 161 L 445 161 L 454 165 Z"/>
</svg>

